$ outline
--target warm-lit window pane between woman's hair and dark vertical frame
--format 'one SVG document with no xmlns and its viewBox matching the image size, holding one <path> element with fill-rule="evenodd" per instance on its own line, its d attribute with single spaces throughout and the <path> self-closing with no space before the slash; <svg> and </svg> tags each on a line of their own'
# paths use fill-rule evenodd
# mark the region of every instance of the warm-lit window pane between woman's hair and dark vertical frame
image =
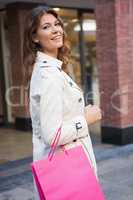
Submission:
<svg viewBox="0 0 133 200">
<path fill-rule="evenodd" d="M 79 58 L 79 33 L 74 30 L 78 24 L 76 9 L 55 9 L 63 19 L 65 30 L 70 41 L 71 60 L 69 62 L 70 76 L 81 86 L 81 71 Z"/>
</svg>

